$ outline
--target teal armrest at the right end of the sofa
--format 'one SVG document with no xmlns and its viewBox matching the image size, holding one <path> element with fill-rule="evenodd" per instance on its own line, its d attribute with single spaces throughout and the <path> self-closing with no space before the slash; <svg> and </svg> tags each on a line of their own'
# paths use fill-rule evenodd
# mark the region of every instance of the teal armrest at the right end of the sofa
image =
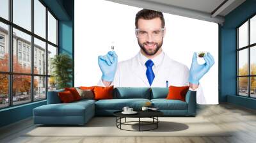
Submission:
<svg viewBox="0 0 256 143">
<path fill-rule="evenodd" d="M 188 115 L 196 115 L 196 91 L 188 91 L 186 94 L 186 103 L 188 103 Z"/>
</svg>

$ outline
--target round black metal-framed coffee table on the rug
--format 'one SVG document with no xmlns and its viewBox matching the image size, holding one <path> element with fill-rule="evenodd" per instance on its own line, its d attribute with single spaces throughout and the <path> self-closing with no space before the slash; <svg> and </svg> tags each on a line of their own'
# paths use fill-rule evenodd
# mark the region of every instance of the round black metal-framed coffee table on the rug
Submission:
<svg viewBox="0 0 256 143">
<path fill-rule="evenodd" d="M 122 110 L 114 112 L 114 116 L 116 116 L 116 127 L 120 130 L 126 130 L 122 128 L 122 125 L 130 125 L 130 126 L 138 126 L 139 130 L 127 130 L 127 131 L 150 131 L 158 128 L 159 123 L 159 116 L 163 116 L 163 112 L 159 110 L 138 110 L 137 114 L 122 114 Z M 138 118 L 138 121 L 126 121 L 127 117 L 132 118 Z M 141 121 L 141 118 L 151 118 L 152 121 Z M 125 119 L 124 122 L 122 122 L 122 119 Z M 138 123 L 138 124 L 131 124 L 131 123 Z M 141 130 L 141 126 L 148 126 L 148 125 L 154 125 L 153 128 L 150 128 L 148 130 Z"/>
</svg>

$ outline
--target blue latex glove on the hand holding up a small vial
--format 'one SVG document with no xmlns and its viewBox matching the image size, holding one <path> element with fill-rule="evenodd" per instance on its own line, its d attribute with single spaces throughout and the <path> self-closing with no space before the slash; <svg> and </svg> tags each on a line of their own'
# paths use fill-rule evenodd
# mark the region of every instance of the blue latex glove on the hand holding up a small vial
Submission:
<svg viewBox="0 0 256 143">
<path fill-rule="evenodd" d="M 102 80 L 112 82 L 116 72 L 117 55 L 115 51 L 109 51 L 104 56 L 98 56 L 98 64 L 102 72 Z"/>
</svg>

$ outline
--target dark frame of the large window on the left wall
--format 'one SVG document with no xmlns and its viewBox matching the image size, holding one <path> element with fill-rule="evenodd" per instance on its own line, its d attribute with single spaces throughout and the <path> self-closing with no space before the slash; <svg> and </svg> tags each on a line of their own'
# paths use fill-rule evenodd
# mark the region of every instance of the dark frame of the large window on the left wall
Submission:
<svg viewBox="0 0 256 143">
<path fill-rule="evenodd" d="M 15 107 L 15 106 L 19 106 L 19 105 L 24 105 L 24 104 L 28 104 L 28 103 L 31 103 L 31 102 L 40 102 L 42 100 L 47 100 L 47 91 L 48 91 L 48 80 L 49 80 L 49 77 L 51 77 L 51 75 L 48 75 L 48 69 L 46 68 L 45 70 L 45 74 L 42 73 L 42 74 L 36 74 L 34 73 L 34 62 L 35 62 L 35 57 L 34 57 L 34 38 L 37 38 L 38 40 L 41 40 L 41 41 L 44 41 L 45 42 L 45 50 L 46 50 L 46 67 L 48 66 L 48 44 L 49 45 L 52 45 L 53 47 L 56 47 L 57 49 L 57 53 L 56 55 L 59 54 L 59 44 L 58 44 L 58 33 L 59 33 L 59 29 L 58 29 L 58 23 L 59 23 L 59 19 L 56 17 L 56 15 L 54 15 L 54 13 L 50 10 L 50 8 L 48 8 L 48 6 L 46 6 L 46 4 L 42 1 L 42 0 L 38 0 L 43 6 L 45 6 L 45 38 L 39 36 L 38 34 L 35 33 L 35 25 L 34 25 L 34 15 L 35 15 L 35 10 L 34 10 L 34 1 L 35 0 L 31 0 L 31 31 L 13 23 L 13 0 L 9 0 L 8 1 L 8 6 L 9 6 L 9 11 L 8 11 L 8 20 L 4 19 L 3 17 L 0 17 L 0 22 L 2 22 L 3 24 L 7 24 L 8 25 L 8 44 L 6 46 L 6 48 L 8 48 L 9 50 L 9 62 L 8 62 L 8 65 L 9 65 L 9 70 L 8 72 L 1 72 L 0 71 L 0 74 L 7 74 L 8 75 L 8 98 L 9 98 L 9 103 L 8 103 L 8 106 L 6 107 L 0 107 L 0 110 L 1 109 L 6 109 L 6 108 L 10 108 L 10 107 Z M 49 13 L 51 13 L 51 15 L 54 17 L 54 19 L 56 19 L 56 44 L 52 43 L 51 41 L 48 40 L 48 11 Z M 13 72 L 13 28 L 23 32 L 23 33 L 26 33 L 26 34 L 29 34 L 31 36 L 31 52 L 29 54 L 29 62 L 31 63 L 31 72 L 30 73 L 17 73 L 17 72 Z M 18 43 L 19 41 L 17 41 L 17 45 L 19 45 Z M 28 45 L 27 45 L 28 46 Z M 26 47 L 27 47 L 26 46 Z M 23 52 L 23 44 L 21 45 L 21 50 L 19 49 L 19 46 L 17 46 L 17 52 L 21 52 L 22 54 L 23 53 L 26 53 L 27 55 L 27 50 L 26 50 L 26 47 L 25 47 L 25 51 Z M 19 58 L 19 57 L 17 57 Z M 23 58 L 23 57 L 22 57 Z M 25 60 L 27 61 L 27 60 Z M 27 61 L 28 62 L 28 61 Z M 12 88 L 13 88 L 13 75 L 29 75 L 30 78 L 31 78 L 31 86 L 30 86 L 30 91 L 34 91 L 34 78 L 35 77 L 45 77 L 45 98 L 44 99 L 40 99 L 40 100 L 35 100 L 34 97 L 34 92 L 31 92 L 30 93 L 30 96 L 31 96 L 31 99 L 30 101 L 26 102 L 26 103 L 20 103 L 20 104 L 17 104 L 17 105 L 13 105 L 13 92 L 12 92 Z"/>
</svg>

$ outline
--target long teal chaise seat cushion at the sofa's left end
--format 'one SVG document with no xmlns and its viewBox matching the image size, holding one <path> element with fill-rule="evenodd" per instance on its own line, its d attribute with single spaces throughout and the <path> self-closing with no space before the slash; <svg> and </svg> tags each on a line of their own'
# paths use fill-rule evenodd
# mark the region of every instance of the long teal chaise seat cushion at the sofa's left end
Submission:
<svg viewBox="0 0 256 143">
<path fill-rule="evenodd" d="M 42 105 L 33 111 L 34 116 L 84 116 L 91 109 L 94 109 L 93 102 L 73 102 Z"/>
</svg>

